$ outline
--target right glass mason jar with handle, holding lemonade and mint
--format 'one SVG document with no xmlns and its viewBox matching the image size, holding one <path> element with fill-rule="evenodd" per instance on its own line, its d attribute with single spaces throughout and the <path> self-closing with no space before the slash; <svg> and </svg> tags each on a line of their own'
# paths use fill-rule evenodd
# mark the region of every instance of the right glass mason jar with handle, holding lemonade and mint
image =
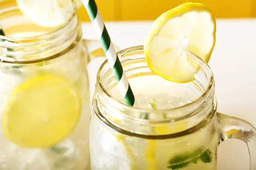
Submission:
<svg viewBox="0 0 256 170">
<path fill-rule="evenodd" d="M 97 74 L 90 125 L 92 170 L 216 170 L 217 147 L 240 139 L 256 169 L 256 129 L 216 111 L 212 71 L 188 52 L 196 80 L 174 83 L 152 73 L 143 46 L 118 52 L 138 108 L 125 105 L 105 61 Z"/>
</svg>

